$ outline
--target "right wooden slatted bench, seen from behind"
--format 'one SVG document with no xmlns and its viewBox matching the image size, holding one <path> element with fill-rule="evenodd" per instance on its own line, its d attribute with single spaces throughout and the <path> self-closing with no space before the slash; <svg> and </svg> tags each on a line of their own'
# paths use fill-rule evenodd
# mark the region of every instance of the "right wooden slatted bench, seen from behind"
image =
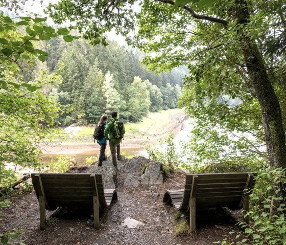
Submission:
<svg viewBox="0 0 286 245">
<path fill-rule="evenodd" d="M 255 184 L 256 173 L 187 174 L 182 190 L 166 191 L 163 202 L 173 204 L 177 211 L 189 211 L 190 230 L 196 230 L 196 209 L 228 207 L 243 208 L 244 221 L 248 222 L 249 194 Z"/>
</svg>

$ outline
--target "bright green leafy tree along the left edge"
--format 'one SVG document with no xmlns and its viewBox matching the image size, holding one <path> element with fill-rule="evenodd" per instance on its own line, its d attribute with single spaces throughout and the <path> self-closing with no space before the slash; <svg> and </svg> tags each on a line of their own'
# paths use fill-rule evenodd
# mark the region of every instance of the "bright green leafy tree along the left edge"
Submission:
<svg viewBox="0 0 286 245">
<path fill-rule="evenodd" d="M 64 35 L 73 40 L 66 28 L 55 30 L 43 25 L 46 18 L 17 17 L 14 21 L 0 14 L 0 185 L 15 178 L 5 163 L 20 167 L 39 165 L 37 142 L 49 136 L 58 105 L 54 97 L 41 90 L 58 81 L 58 75 L 42 72 L 36 81 L 25 82 L 19 75 L 35 58 L 45 61 L 47 53 L 40 49 L 41 40 Z M 11 174 L 12 172 L 12 174 Z"/>
</svg>

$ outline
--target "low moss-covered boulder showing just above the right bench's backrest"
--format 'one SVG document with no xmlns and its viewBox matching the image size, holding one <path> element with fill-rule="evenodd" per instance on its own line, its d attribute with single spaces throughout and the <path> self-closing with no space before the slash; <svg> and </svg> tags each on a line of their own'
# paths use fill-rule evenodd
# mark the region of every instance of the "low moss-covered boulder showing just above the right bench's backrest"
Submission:
<svg viewBox="0 0 286 245">
<path fill-rule="evenodd" d="M 242 164 L 230 162 L 214 163 L 205 167 L 203 173 L 232 173 L 232 172 L 249 172 L 251 169 Z"/>
</svg>

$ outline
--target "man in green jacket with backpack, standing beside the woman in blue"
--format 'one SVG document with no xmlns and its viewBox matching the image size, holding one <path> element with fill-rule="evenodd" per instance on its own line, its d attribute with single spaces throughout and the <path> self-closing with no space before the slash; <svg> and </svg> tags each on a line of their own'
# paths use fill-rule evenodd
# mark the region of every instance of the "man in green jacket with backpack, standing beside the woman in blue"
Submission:
<svg viewBox="0 0 286 245">
<path fill-rule="evenodd" d="M 116 134 L 116 132 L 114 130 L 114 128 L 115 128 L 114 124 L 115 123 L 117 124 L 117 122 L 121 122 L 122 126 L 123 126 L 123 122 L 120 121 L 117 118 L 117 112 L 111 113 L 111 117 L 112 117 L 112 120 L 107 124 L 106 128 L 104 129 L 104 137 L 105 137 L 106 140 L 109 141 L 109 147 L 110 147 L 110 151 L 111 151 L 112 164 L 115 167 L 115 169 L 117 170 L 116 158 L 117 158 L 117 160 L 121 159 L 121 156 L 120 156 L 120 143 L 122 141 L 122 137 L 124 136 L 125 130 L 123 131 L 123 136 L 118 138 L 118 136 L 117 136 L 117 134 Z M 123 126 L 123 129 L 124 129 L 124 126 Z"/>
</svg>

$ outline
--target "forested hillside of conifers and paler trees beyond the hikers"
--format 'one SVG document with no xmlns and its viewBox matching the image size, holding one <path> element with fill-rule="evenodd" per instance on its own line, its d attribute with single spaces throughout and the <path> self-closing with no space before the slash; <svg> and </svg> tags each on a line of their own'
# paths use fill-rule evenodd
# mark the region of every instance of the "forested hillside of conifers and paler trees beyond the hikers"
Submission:
<svg viewBox="0 0 286 245">
<path fill-rule="evenodd" d="M 184 67 L 149 73 L 140 65 L 143 53 L 116 41 L 94 47 L 84 39 L 65 42 L 55 37 L 43 45 L 49 53 L 46 69 L 61 75 L 59 84 L 45 88 L 61 104 L 57 119 L 61 125 L 96 123 L 113 110 L 121 119 L 138 121 L 149 111 L 177 106 L 187 73 Z M 36 79 L 39 69 L 42 64 L 25 73 L 26 79 Z"/>
</svg>

